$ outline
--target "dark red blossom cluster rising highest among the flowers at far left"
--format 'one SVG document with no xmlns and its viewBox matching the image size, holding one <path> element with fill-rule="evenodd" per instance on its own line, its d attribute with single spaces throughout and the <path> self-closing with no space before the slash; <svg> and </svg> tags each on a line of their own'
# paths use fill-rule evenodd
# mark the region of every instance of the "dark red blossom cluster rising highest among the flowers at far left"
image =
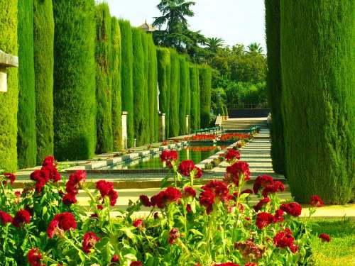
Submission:
<svg viewBox="0 0 355 266">
<path fill-rule="evenodd" d="M 54 157 L 45 157 L 40 170 L 35 170 L 32 172 L 30 177 L 33 181 L 35 181 L 35 192 L 38 193 L 42 192 L 43 187 L 50 180 L 52 180 L 52 182 L 60 181 L 61 177 L 57 170 Z"/>
</svg>

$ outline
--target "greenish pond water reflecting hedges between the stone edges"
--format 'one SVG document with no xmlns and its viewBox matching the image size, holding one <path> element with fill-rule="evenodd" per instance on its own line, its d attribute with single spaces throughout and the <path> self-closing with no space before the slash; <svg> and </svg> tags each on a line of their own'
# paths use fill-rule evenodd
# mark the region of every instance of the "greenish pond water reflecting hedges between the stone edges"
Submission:
<svg viewBox="0 0 355 266">
<path fill-rule="evenodd" d="M 214 153 L 226 148 L 225 145 L 191 145 L 178 148 L 178 161 L 192 160 L 195 164 L 214 155 Z M 119 165 L 107 167 L 109 170 L 124 170 L 124 169 L 163 169 L 163 162 L 160 161 L 160 153 L 147 156 L 141 159 L 124 162 Z"/>
</svg>

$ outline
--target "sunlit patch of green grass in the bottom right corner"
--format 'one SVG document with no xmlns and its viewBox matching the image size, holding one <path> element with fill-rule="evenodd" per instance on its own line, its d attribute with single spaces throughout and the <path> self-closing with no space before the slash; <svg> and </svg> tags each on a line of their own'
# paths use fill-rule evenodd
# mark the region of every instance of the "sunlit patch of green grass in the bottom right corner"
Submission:
<svg viewBox="0 0 355 266">
<path fill-rule="evenodd" d="M 355 265 L 355 218 L 312 218 L 311 242 L 313 265 Z M 320 233 L 330 235 L 330 242 L 322 243 Z"/>
</svg>

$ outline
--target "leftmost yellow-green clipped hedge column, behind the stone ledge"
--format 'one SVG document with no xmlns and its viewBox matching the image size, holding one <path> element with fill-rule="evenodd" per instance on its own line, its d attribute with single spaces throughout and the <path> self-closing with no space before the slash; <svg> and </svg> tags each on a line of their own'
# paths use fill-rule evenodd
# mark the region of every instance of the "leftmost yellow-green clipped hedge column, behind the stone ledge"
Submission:
<svg viewBox="0 0 355 266">
<path fill-rule="evenodd" d="M 17 55 L 17 1 L 0 0 L 0 49 Z M 7 92 L 0 92 L 0 171 L 17 169 L 18 70 L 7 70 Z"/>
</svg>

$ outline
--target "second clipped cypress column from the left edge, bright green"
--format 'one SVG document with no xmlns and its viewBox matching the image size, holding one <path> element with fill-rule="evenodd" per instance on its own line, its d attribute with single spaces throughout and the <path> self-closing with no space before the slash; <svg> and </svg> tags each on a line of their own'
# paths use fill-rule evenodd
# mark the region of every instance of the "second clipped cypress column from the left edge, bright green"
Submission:
<svg viewBox="0 0 355 266">
<path fill-rule="evenodd" d="M 18 1 L 18 167 L 35 166 L 35 69 L 33 0 Z"/>
</svg>

